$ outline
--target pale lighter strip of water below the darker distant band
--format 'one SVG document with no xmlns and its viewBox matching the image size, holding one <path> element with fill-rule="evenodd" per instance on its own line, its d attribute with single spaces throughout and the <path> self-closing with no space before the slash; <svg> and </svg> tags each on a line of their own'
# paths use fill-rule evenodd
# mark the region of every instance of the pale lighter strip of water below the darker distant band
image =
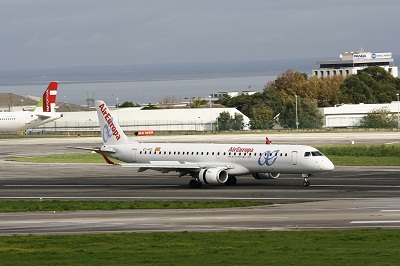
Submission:
<svg viewBox="0 0 400 266">
<path fill-rule="evenodd" d="M 86 105 L 87 97 L 103 100 L 109 105 L 123 103 L 159 103 L 166 97 L 185 101 L 185 98 L 208 97 L 221 91 L 248 90 L 262 91 L 264 85 L 275 76 L 249 76 L 212 79 L 63 83 L 58 86 L 57 102 Z M 41 85 L 0 86 L 1 93 L 12 92 L 20 95 L 41 96 L 47 87 Z M 187 100 L 186 100 L 187 101 Z"/>
</svg>

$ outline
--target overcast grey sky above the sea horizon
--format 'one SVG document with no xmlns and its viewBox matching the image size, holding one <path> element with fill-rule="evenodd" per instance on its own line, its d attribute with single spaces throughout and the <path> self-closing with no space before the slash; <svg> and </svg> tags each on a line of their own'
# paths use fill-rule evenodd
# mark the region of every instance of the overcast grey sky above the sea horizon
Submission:
<svg viewBox="0 0 400 266">
<path fill-rule="evenodd" d="M 400 54 L 399 0 L 0 0 L 0 70 Z M 398 62 L 395 62 L 398 64 Z"/>
</svg>

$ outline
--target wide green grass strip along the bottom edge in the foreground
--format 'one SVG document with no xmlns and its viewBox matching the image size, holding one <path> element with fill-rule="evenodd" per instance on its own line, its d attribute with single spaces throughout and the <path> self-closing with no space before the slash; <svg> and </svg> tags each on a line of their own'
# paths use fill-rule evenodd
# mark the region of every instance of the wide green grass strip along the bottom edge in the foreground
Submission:
<svg viewBox="0 0 400 266">
<path fill-rule="evenodd" d="M 0 237 L 1 265 L 398 265 L 400 230 Z"/>
</svg>

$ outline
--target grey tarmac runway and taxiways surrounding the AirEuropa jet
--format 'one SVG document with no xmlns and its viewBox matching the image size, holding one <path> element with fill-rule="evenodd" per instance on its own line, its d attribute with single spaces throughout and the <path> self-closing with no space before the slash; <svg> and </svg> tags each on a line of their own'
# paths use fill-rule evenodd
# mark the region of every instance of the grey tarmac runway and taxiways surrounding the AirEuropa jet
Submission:
<svg viewBox="0 0 400 266">
<path fill-rule="evenodd" d="M 335 139 L 348 143 L 349 140 L 349 135 L 341 134 L 323 137 L 307 134 L 304 139 L 301 135 L 288 135 L 286 140 L 280 137 L 279 141 L 321 145 L 325 137 L 327 142 Z M 392 143 L 399 136 L 398 133 L 373 133 L 363 135 L 363 141 Z M 216 135 L 211 140 L 229 141 L 227 137 L 220 137 Z M 188 136 L 184 141 L 192 141 L 192 138 L 199 136 Z M 240 138 L 265 140 L 261 135 L 241 135 Z M 177 137 L 166 139 L 160 137 L 159 141 L 173 142 Z M 238 138 L 232 136 L 232 139 Z M 238 184 L 232 187 L 190 189 L 190 178 L 177 177 L 173 173 L 137 173 L 135 169 L 106 164 L 34 164 L 5 160 L 13 156 L 77 152 L 65 147 L 83 144 L 98 146 L 100 138 L 0 140 L 0 200 L 261 200 L 273 205 L 220 210 L 3 213 L 0 214 L 0 234 L 400 226 L 400 167 L 339 166 L 333 172 L 312 177 L 310 187 L 302 187 L 301 176 L 282 175 L 276 180 L 239 177 Z"/>
</svg>

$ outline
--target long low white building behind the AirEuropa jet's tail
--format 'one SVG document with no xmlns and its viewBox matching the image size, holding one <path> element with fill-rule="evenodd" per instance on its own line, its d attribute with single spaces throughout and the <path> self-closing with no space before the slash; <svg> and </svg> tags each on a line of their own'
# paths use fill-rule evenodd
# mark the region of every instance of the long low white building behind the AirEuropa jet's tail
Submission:
<svg viewBox="0 0 400 266">
<path fill-rule="evenodd" d="M 222 112 L 243 116 L 245 130 L 250 120 L 236 108 L 180 108 L 141 110 L 140 107 L 114 108 L 111 110 L 122 130 L 137 132 L 154 131 L 214 131 L 218 129 L 217 118 Z M 63 117 L 40 126 L 46 132 L 100 131 L 96 111 L 65 112 Z"/>
</svg>

